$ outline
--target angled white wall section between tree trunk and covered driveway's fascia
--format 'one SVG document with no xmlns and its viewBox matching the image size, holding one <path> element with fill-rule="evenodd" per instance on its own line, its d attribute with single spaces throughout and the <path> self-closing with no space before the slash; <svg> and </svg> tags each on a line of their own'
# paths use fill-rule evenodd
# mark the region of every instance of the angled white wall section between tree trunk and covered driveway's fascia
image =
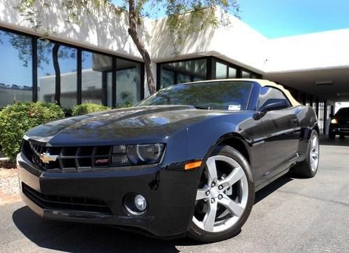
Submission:
<svg viewBox="0 0 349 253">
<path fill-rule="evenodd" d="M 221 17 L 220 10 L 217 10 L 216 15 Z M 177 45 L 177 57 L 174 55 L 173 38 L 167 29 L 166 20 L 154 21 L 151 55 L 156 62 L 214 55 L 260 72 L 267 57 L 264 50 L 267 38 L 237 17 L 229 15 L 228 19 L 230 24 L 226 27 L 207 27 L 203 31 L 190 34 L 184 43 Z"/>
</svg>

